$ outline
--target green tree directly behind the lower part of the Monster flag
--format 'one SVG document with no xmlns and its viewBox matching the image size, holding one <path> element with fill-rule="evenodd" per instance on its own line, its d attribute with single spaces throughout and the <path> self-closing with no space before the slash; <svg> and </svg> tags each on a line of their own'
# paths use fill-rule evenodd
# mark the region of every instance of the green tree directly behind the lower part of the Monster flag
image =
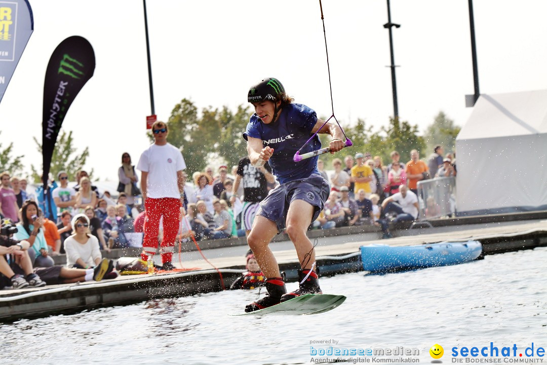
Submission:
<svg viewBox="0 0 547 365">
<path fill-rule="evenodd" d="M 38 142 L 36 137 L 33 137 L 33 139 L 38 148 L 38 152 L 42 154 L 42 143 Z M 77 152 L 77 148 L 74 147 L 72 131 L 69 131 L 68 133 L 66 131 L 61 131 L 61 134 L 57 138 L 57 143 L 55 143 L 49 171 L 55 179 L 60 171 L 66 171 L 69 181 L 75 181 L 76 173 L 84 168 L 85 161 L 88 157 L 89 147 L 85 147 L 82 153 Z M 40 176 L 42 175 L 43 170 L 38 171 L 34 165 L 31 165 L 31 169 L 34 182 L 40 182 Z M 88 171 L 88 173 L 91 177 L 93 169 Z"/>
</svg>

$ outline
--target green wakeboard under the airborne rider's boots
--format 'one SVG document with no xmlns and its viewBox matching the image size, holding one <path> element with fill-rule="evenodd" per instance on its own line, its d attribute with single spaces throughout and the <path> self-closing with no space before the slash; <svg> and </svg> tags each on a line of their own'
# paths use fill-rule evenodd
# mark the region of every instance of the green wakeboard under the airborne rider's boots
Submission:
<svg viewBox="0 0 547 365">
<path fill-rule="evenodd" d="M 305 294 L 304 296 L 296 297 L 287 302 L 272 305 L 268 308 L 260 309 L 254 312 L 232 314 L 232 316 L 248 316 L 248 315 L 310 315 L 319 314 L 333 310 L 340 304 L 344 303 L 346 297 L 335 296 L 333 294 Z"/>
</svg>

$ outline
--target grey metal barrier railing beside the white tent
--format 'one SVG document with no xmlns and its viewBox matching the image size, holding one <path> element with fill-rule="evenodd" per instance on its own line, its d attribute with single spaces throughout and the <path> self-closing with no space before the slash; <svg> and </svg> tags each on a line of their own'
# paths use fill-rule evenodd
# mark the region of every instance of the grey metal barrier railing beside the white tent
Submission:
<svg viewBox="0 0 547 365">
<path fill-rule="evenodd" d="M 417 221 L 447 217 L 456 212 L 456 178 L 437 177 L 418 181 Z"/>
</svg>

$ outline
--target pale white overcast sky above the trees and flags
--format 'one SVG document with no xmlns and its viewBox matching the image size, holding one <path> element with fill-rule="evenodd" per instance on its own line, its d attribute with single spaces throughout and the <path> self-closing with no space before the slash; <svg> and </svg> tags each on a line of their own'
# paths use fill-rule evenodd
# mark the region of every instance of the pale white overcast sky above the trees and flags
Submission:
<svg viewBox="0 0 547 365">
<path fill-rule="evenodd" d="M 117 179 L 121 154 L 137 163 L 149 142 L 143 5 L 139 0 L 30 0 L 34 33 L 0 103 L 3 147 L 41 166 L 45 68 L 57 44 L 79 35 L 95 50 L 94 77 L 66 115 L 86 168 Z M 276 77 L 296 102 L 331 114 L 319 2 L 312 0 L 149 0 L 155 111 L 167 120 L 191 99 L 201 109 L 246 103 L 249 86 Z M 379 128 L 393 115 L 385 0 L 323 0 L 334 113 Z M 483 94 L 547 88 L 547 2 L 475 0 Z M 473 69 L 467 0 L 392 0 L 399 115 L 423 130 L 439 111 L 463 125 L 472 109 Z"/>
</svg>

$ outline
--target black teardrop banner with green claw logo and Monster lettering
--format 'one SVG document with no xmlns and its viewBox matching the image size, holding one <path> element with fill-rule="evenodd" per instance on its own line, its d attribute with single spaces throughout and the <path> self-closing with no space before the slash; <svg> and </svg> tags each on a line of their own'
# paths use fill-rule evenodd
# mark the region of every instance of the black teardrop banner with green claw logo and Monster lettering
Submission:
<svg viewBox="0 0 547 365">
<path fill-rule="evenodd" d="M 78 92 L 93 76 L 95 53 L 87 39 L 79 36 L 63 40 L 53 51 L 45 71 L 42 115 L 42 156 L 44 193 L 51 156 L 61 124 Z"/>
</svg>

